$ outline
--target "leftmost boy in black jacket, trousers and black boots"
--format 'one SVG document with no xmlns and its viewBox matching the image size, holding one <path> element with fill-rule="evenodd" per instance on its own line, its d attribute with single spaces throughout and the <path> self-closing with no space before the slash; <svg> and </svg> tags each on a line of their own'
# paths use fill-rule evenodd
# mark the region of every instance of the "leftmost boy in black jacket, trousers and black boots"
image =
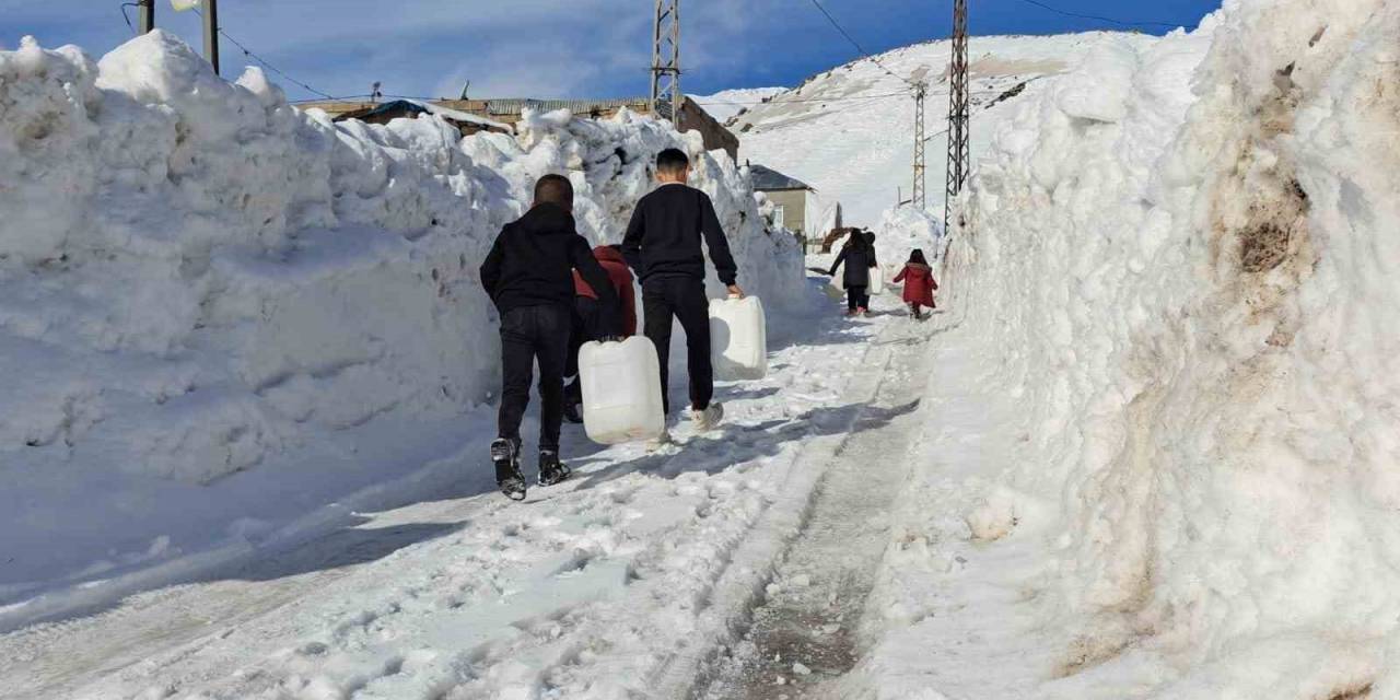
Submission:
<svg viewBox="0 0 1400 700">
<path fill-rule="evenodd" d="M 535 183 L 535 204 L 496 238 L 482 263 L 482 286 L 501 314 L 503 388 L 498 438 L 491 442 L 496 483 L 512 500 L 525 498 L 519 470 L 521 419 L 529 406 L 529 384 L 539 360 L 539 484 L 568 477 L 559 461 L 559 428 L 564 413 L 564 363 L 573 325 L 574 269 L 596 290 L 605 328 L 616 335 L 617 308 L 608 273 L 588 241 L 574 228 L 574 188 L 568 178 L 545 175 Z"/>
</svg>

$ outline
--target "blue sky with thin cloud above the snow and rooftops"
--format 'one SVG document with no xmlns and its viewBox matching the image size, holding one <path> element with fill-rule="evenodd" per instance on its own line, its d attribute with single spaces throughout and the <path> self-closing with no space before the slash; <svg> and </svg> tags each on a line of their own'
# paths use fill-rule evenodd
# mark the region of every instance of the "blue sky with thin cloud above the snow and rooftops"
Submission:
<svg viewBox="0 0 1400 700">
<path fill-rule="evenodd" d="M 1060 10 L 1194 27 L 1219 0 L 1039 0 Z M 157 24 L 202 45 L 199 17 L 157 0 Z M 0 0 L 0 46 L 32 34 L 94 55 L 132 36 L 122 0 Z M 951 0 L 822 0 L 871 52 L 945 38 Z M 1121 28 L 1028 0 L 970 0 L 973 34 Z M 651 0 L 223 0 L 224 29 L 287 74 L 332 95 L 623 97 L 647 92 Z M 134 22 L 134 8 L 127 8 Z M 683 0 L 687 92 L 794 85 L 857 57 L 811 0 Z M 1142 27 L 1161 34 L 1161 27 Z M 223 43 L 224 76 L 245 57 Z M 315 97 L 273 76 L 293 99 Z"/>
</svg>

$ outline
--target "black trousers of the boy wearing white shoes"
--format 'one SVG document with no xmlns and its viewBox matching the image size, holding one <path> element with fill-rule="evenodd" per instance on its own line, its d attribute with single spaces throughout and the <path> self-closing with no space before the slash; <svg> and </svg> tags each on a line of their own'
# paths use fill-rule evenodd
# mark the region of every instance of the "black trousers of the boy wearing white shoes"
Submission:
<svg viewBox="0 0 1400 700">
<path fill-rule="evenodd" d="M 666 388 L 671 360 L 671 319 L 680 321 L 686 332 L 686 364 L 690 370 L 690 406 L 710 407 L 714 396 L 714 368 L 710 364 L 710 300 L 704 294 L 704 280 L 694 277 L 648 279 L 641 284 L 641 309 L 645 315 L 644 333 L 657 344 L 661 361 L 661 402 L 671 413 Z"/>
</svg>

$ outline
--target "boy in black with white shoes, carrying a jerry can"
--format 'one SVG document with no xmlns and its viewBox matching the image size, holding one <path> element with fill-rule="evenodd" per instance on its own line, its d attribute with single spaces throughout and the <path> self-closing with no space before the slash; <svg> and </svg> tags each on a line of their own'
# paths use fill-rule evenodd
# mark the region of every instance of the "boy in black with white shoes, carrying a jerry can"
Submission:
<svg viewBox="0 0 1400 700">
<path fill-rule="evenodd" d="M 671 413 L 666 381 L 671 319 L 675 316 L 686 332 L 692 417 L 700 430 L 710 430 L 724 417 L 724 407 L 710 400 L 714 370 L 710 365 L 710 300 L 704 293 L 701 238 L 729 294 L 742 297 L 743 290 L 735 284 L 738 267 L 714 203 L 704 192 L 686 185 L 689 176 L 690 158 L 680 150 L 666 148 L 657 155 L 661 186 L 637 203 L 622 249 L 641 277 L 644 332 L 657 344 L 661 360 L 662 405 Z"/>
</svg>

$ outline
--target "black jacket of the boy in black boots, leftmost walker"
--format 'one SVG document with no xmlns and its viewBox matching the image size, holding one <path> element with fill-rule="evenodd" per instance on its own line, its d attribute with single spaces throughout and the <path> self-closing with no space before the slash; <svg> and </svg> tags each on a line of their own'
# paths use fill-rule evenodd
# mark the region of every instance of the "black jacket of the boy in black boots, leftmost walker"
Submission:
<svg viewBox="0 0 1400 700">
<path fill-rule="evenodd" d="M 482 287 L 501 314 L 545 304 L 573 309 L 575 269 L 596 290 L 605 311 L 619 308 L 612 280 L 574 228 L 573 214 L 556 204 L 538 204 L 496 237 L 482 263 Z M 616 328 L 616 314 L 609 315 L 606 328 Z"/>
</svg>

